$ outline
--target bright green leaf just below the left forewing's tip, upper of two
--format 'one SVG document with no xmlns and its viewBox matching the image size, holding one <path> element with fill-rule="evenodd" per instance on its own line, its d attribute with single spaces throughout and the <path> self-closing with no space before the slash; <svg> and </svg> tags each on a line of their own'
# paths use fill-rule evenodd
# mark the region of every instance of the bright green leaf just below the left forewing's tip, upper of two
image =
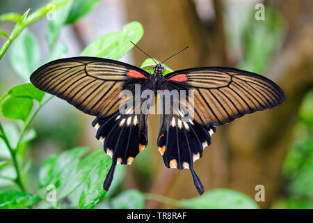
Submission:
<svg viewBox="0 0 313 223">
<path fill-rule="evenodd" d="M 41 102 L 42 98 L 45 96 L 44 91 L 35 88 L 31 83 L 19 84 L 10 89 L 8 94 L 15 97 L 31 98 L 33 100 L 38 100 L 38 102 Z"/>
</svg>

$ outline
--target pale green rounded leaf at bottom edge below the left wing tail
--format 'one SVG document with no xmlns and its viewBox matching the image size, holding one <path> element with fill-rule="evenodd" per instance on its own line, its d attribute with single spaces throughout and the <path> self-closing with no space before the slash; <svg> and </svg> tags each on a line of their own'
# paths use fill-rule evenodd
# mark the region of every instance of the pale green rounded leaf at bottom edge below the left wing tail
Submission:
<svg viewBox="0 0 313 223">
<path fill-rule="evenodd" d="M 139 190 L 126 190 L 111 201 L 114 209 L 142 209 L 145 208 L 145 196 Z"/>
</svg>

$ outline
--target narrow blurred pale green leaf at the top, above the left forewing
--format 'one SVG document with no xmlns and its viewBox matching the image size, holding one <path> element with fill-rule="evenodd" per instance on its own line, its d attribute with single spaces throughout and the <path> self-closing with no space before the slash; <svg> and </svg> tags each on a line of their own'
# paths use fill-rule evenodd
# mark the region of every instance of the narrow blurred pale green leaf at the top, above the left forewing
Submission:
<svg viewBox="0 0 313 223">
<path fill-rule="evenodd" d="M 59 36 L 59 33 L 65 24 L 67 19 L 67 15 L 70 13 L 70 9 L 72 7 L 72 3 L 68 3 L 66 6 L 56 10 L 56 19 L 49 20 L 48 29 L 46 33 L 46 39 L 50 49 L 54 48 L 54 44 Z"/>
</svg>

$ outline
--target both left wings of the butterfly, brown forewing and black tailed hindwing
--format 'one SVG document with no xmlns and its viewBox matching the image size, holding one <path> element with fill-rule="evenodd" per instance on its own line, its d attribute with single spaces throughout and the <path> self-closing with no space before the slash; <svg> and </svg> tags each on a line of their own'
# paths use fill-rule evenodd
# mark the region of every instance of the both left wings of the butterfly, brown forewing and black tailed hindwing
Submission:
<svg viewBox="0 0 313 223">
<path fill-rule="evenodd" d="M 31 75 L 31 82 L 38 89 L 66 100 L 86 114 L 97 116 L 93 121 L 96 138 L 112 157 L 104 190 L 109 190 L 115 164 L 131 164 L 147 145 L 147 116 L 135 114 L 134 98 L 122 91 L 128 90 L 134 95 L 135 84 L 140 84 L 144 90 L 149 76 L 127 63 L 95 57 L 51 61 Z M 122 105 L 125 105 L 124 113 L 120 112 Z"/>
</svg>

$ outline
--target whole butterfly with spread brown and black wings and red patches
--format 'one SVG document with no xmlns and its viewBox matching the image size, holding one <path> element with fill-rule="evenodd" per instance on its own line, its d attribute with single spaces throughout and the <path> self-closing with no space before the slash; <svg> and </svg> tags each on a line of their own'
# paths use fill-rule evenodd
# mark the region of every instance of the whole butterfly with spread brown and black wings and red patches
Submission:
<svg viewBox="0 0 313 223">
<path fill-rule="evenodd" d="M 104 180 L 106 191 L 115 165 L 131 164 L 147 146 L 146 111 L 153 104 L 154 93 L 161 103 L 157 146 L 164 164 L 168 168 L 189 169 L 195 188 L 202 194 L 204 187 L 193 162 L 211 144 L 216 126 L 278 107 L 286 96 L 270 79 L 235 68 L 190 68 L 163 75 L 164 71 L 162 63 L 156 63 L 151 74 L 120 61 L 79 56 L 46 63 L 33 72 L 30 80 L 38 89 L 96 116 L 92 123 L 97 129 L 96 138 L 112 157 Z M 166 90 L 187 93 L 166 98 L 166 94 L 159 93 Z M 136 99 L 136 91 L 139 95 L 148 91 L 149 97 Z M 185 105 L 192 109 L 182 109 Z M 166 108 L 168 112 L 164 112 Z"/>
</svg>

